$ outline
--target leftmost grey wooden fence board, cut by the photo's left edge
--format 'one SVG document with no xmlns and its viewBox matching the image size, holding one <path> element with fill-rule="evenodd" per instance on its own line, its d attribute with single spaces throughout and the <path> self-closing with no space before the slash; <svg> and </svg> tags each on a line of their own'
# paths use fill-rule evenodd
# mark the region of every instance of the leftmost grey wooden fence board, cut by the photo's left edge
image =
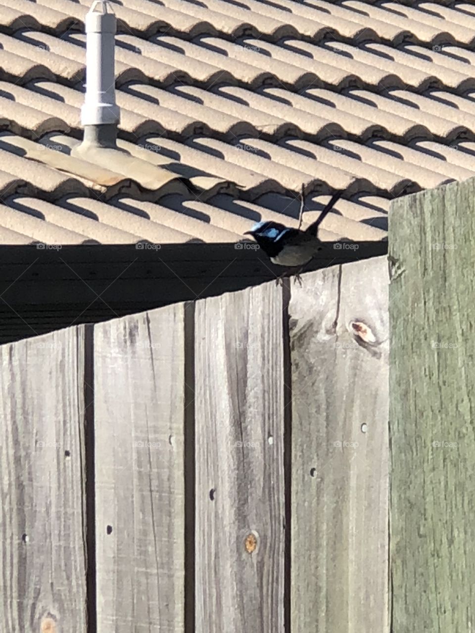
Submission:
<svg viewBox="0 0 475 633">
<path fill-rule="evenodd" d="M 0 361 L 0 629 L 85 631 L 84 328 Z"/>
</svg>

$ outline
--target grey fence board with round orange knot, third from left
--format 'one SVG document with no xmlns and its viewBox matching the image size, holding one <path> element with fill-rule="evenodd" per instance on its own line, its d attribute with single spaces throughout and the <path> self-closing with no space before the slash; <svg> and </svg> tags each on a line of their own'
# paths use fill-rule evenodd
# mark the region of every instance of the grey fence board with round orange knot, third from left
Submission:
<svg viewBox="0 0 475 633">
<path fill-rule="evenodd" d="M 198 301 L 196 630 L 282 633 L 282 291 Z"/>
</svg>

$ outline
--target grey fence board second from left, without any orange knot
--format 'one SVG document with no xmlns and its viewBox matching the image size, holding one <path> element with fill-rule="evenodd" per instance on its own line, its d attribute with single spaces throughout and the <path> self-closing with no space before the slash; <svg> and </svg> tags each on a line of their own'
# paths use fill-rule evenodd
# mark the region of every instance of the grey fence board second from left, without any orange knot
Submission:
<svg viewBox="0 0 475 633">
<path fill-rule="evenodd" d="M 98 632 L 184 630 L 184 304 L 94 326 Z"/>
</svg>

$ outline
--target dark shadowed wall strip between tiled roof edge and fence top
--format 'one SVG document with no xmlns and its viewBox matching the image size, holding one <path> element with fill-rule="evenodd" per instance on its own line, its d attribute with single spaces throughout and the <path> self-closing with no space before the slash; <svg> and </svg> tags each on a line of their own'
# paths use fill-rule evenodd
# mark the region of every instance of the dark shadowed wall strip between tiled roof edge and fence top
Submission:
<svg viewBox="0 0 475 633">
<path fill-rule="evenodd" d="M 388 242 L 338 244 L 325 244 L 308 272 L 388 252 Z M 0 246 L 0 343 L 238 291 L 282 274 L 262 251 L 236 246 Z"/>
</svg>

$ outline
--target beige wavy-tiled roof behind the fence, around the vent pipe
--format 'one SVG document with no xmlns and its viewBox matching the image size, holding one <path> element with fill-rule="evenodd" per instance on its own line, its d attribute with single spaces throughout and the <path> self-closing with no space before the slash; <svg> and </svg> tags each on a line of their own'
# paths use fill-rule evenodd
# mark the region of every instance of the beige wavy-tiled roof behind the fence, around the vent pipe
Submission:
<svg viewBox="0 0 475 633">
<path fill-rule="evenodd" d="M 82 138 L 90 0 L 0 0 L 0 243 L 232 242 L 259 220 L 386 238 L 391 200 L 475 175 L 475 7 L 113 3 L 118 146 Z M 149 165 L 144 168 L 146 161 Z"/>
</svg>

